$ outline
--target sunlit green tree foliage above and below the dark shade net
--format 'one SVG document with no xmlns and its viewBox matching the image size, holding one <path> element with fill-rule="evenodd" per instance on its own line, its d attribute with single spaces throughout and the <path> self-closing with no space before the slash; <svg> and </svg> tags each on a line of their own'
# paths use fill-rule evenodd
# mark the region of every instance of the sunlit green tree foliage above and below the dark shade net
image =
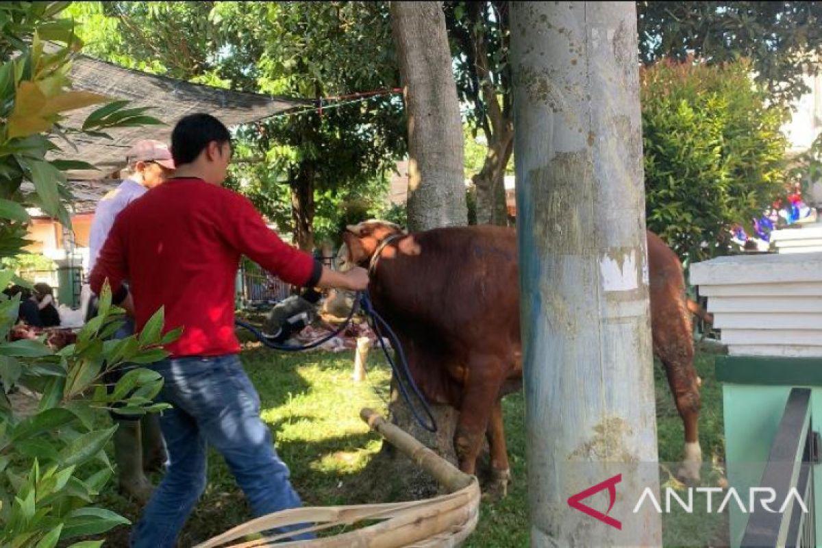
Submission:
<svg viewBox="0 0 822 548">
<path fill-rule="evenodd" d="M 399 83 L 385 2 L 79 3 L 72 9 L 81 33 L 101 58 L 312 99 L 301 113 L 238 131 L 227 185 L 291 227 L 303 248 L 312 247 L 315 230 L 328 237 L 346 203 L 385 193 L 382 175 L 404 154 L 402 101 L 395 94 L 328 99 Z"/>
</svg>

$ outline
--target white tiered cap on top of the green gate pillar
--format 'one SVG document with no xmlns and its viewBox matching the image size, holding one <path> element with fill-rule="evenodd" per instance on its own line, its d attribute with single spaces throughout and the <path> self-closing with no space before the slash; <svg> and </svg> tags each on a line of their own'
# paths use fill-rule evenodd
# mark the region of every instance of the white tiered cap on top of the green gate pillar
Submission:
<svg viewBox="0 0 822 548">
<path fill-rule="evenodd" d="M 822 253 L 719 257 L 690 266 L 728 353 L 822 357 Z"/>
</svg>

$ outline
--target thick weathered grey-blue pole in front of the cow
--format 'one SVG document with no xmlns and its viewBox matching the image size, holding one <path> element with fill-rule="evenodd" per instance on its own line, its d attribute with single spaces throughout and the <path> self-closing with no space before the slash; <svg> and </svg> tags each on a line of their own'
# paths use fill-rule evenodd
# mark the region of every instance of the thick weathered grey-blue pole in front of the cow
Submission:
<svg viewBox="0 0 822 548">
<path fill-rule="evenodd" d="M 660 546 L 635 5 L 510 9 L 531 544 Z"/>
</svg>

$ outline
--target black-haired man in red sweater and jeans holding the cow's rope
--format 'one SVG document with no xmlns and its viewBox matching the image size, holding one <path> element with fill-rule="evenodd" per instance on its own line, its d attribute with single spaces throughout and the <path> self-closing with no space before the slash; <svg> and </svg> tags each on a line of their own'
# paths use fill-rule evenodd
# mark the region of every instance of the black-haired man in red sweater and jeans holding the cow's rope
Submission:
<svg viewBox="0 0 822 548">
<path fill-rule="evenodd" d="M 301 504 L 238 357 L 234 279 L 240 256 L 294 285 L 359 291 L 368 284 L 365 269 L 340 274 L 286 245 L 249 200 L 221 187 L 231 141 L 215 117 L 183 117 L 171 151 L 175 177 L 118 215 L 90 277 L 98 294 L 109 280 L 113 302 L 132 313 L 137 331 L 160 306 L 164 332 L 183 328 L 166 346 L 169 359 L 151 365 L 164 377 L 159 401 L 173 406 L 160 417 L 169 470 L 132 531 L 138 548 L 174 546 L 205 489 L 206 444 L 223 455 L 257 516 Z"/>
</svg>

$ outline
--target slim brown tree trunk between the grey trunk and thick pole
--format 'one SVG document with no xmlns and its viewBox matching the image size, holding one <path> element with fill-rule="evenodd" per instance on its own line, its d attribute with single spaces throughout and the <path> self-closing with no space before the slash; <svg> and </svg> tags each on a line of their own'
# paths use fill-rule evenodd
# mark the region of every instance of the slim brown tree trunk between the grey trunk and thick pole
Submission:
<svg viewBox="0 0 822 548">
<path fill-rule="evenodd" d="M 488 143 L 483 169 L 472 177 L 477 187 L 477 224 L 507 226 L 506 165 L 514 150 L 514 132 L 493 136 Z"/>
</svg>

